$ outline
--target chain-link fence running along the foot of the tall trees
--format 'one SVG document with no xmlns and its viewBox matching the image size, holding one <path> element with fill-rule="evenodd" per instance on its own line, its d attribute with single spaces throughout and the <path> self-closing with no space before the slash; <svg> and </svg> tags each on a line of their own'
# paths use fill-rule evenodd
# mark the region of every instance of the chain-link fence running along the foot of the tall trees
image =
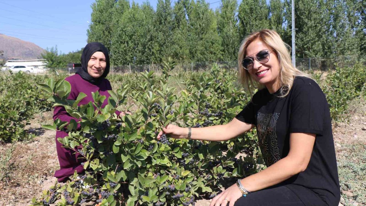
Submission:
<svg viewBox="0 0 366 206">
<path fill-rule="evenodd" d="M 350 67 L 353 66 L 356 62 L 363 62 L 365 60 L 361 60 L 356 58 L 355 56 L 342 56 L 336 59 L 322 59 L 322 58 L 298 58 L 296 59 L 296 67 L 301 70 L 328 70 L 334 69 L 336 66 L 339 67 Z M 220 68 L 223 69 L 238 69 L 238 62 L 195 62 L 195 63 L 178 63 L 175 66 L 175 70 L 173 72 L 178 71 L 206 71 L 212 68 L 214 64 L 217 64 Z M 61 68 L 62 69 L 62 68 Z M 135 72 L 143 72 L 143 71 L 155 71 L 160 73 L 161 69 L 163 69 L 162 64 L 151 64 L 151 65 L 122 65 L 122 66 L 111 66 L 110 73 L 118 74 L 118 73 L 135 73 Z M 62 69 L 64 70 L 64 69 Z M 68 73 L 75 73 L 75 69 L 65 68 Z"/>
</svg>

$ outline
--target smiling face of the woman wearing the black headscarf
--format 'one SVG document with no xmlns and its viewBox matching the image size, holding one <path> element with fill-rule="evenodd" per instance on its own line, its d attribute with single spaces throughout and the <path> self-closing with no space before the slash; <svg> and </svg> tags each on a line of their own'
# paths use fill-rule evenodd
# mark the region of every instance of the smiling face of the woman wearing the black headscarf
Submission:
<svg viewBox="0 0 366 206">
<path fill-rule="evenodd" d="M 103 75 L 107 62 L 103 52 L 97 51 L 91 55 L 88 62 L 88 73 L 93 78 L 98 78 Z"/>
</svg>

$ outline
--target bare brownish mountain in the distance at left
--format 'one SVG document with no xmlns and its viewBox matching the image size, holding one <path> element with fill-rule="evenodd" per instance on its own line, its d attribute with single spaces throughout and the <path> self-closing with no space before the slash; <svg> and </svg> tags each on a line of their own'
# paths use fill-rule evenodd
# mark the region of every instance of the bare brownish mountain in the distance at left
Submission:
<svg viewBox="0 0 366 206">
<path fill-rule="evenodd" d="M 4 51 L 4 57 L 12 59 L 40 59 L 44 49 L 29 41 L 0 34 L 0 50 Z"/>
</svg>

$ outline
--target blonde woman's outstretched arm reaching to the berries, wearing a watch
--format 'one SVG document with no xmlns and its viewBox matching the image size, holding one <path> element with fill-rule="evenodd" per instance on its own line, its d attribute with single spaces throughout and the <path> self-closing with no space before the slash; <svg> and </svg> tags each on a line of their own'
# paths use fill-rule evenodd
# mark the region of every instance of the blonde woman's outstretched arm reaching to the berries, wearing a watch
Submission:
<svg viewBox="0 0 366 206">
<path fill-rule="evenodd" d="M 192 128 L 191 139 L 205 140 L 205 141 L 225 141 L 234 138 L 244 132 L 249 131 L 254 125 L 247 124 L 234 118 L 226 125 L 215 125 L 203 128 Z M 176 125 L 167 125 L 163 128 L 164 133 L 170 134 L 176 139 L 187 138 L 188 128 L 182 128 Z M 157 139 L 163 132 L 158 134 Z"/>
</svg>

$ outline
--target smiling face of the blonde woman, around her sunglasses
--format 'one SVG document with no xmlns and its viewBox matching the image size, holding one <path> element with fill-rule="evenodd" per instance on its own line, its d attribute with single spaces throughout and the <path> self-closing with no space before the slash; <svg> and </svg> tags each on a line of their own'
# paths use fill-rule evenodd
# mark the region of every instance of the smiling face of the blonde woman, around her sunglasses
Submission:
<svg viewBox="0 0 366 206">
<path fill-rule="evenodd" d="M 245 57 L 255 57 L 259 51 L 271 50 L 262 41 L 254 40 L 246 49 Z M 276 92 L 280 88 L 280 66 L 274 50 L 269 51 L 269 60 L 266 63 L 260 63 L 254 58 L 253 69 L 248 70 L 253 80 L 267 87 L 270 93 Z"/>
</svg>

